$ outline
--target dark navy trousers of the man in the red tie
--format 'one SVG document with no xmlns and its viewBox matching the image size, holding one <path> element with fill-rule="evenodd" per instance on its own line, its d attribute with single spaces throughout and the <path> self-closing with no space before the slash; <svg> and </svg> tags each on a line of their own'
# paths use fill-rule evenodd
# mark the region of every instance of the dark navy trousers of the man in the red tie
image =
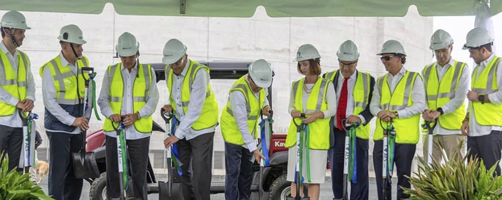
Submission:
<svg viewBox="0 0 502 200">
<path fill-rule="evenodd" d="M 343 158 L 345 130 L 334 129 L 334 146 L 328 150 L 331 165 L 331 188 L 337 199 L 343 195 Z M 368 199 L 368 140 L 356 138 L 357 182 L 350 181 L 350 199 Z M 347 175 L 348 178 L 348 175 Z M 348 194 L 348 193 L 347 193 Z M 347 195 L 348 197 L 348 195 Z"/>
</svg>

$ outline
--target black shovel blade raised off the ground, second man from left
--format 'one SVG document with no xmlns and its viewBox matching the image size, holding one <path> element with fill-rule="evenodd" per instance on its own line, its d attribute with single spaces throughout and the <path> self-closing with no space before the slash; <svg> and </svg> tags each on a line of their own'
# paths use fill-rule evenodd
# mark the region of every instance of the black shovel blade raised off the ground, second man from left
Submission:
<svg viewBox="0 0 502 200">
<path fill-rule="evenodd" d="M 99 169 L 97 167 L 94 152 L 72 153 L 73 170 L 76 178 L 98 178 Z"/>
</svg>

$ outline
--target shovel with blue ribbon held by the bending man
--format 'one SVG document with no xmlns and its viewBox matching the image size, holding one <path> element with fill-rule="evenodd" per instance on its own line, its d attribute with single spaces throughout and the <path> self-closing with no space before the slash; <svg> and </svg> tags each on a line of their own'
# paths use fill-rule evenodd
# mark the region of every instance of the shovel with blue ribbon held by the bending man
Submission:
<svg viewBox="0 0 502 200">
<path fill-rule="evenodd" d="M 270 137 L 272 134 L 272 123 L 274 120 L 272 119 L 274 115 L 274 112 L 270 110 L 270 115 L 267 118 L 263 118 L 263 113 L 260 113 L 260 118 L 262 118 L 262 121 L 260 122 L 260 143 L 262 146 L 262 154 L 265 156 L 265 159 L 262 158 L 260 162 L 260 182 L 258 183 L 258 194 L 259 197 L 258 199 L 263 198 L 263 170 L 265 166 L 270 165 L 270 160 L 269 160 L 269 149 L 270 149 Z"/>
</svg>

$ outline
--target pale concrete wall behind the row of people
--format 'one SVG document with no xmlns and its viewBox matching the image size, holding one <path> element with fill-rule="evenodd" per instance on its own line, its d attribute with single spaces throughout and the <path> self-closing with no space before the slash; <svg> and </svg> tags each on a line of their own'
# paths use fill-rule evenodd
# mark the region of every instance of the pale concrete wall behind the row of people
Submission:
<svg viewBox="0 0 502 200">
<path fill-rule="evenodd" d="M 3 13 L 5 11 L 0 12 Z M 289 127 L 290 116 L 286 110 L 290 85 L 293 80 L 301 77 L 292 60 L 301 44 L 311 43 L 319 49 L 325 72 L 338 67 L 336 50 L 344 40 L 352 39 L 361 54 L 358 69 L 370 72 L 375 77 L 386 73 L 375 53 L 388 39 L 398 39 L 403 43 L 408 54 L 406 67 L 410 70 L 420 71 L 432 56 L 428 49 L 432 18 L 422 17 L 416 10 L 411 10 L 405 17 L 270 18 L 264 14 L 263 9 L 258 9 L 252 18 L 215 18 L 127 16 L 118 15 L 111 6 L 107 6 L 98 15 L 40 12 L 24 14 L 28 25 L 33 29 L 26 32 L 21 49 L 29 54 L 32 62 L 32 72 L 37 82 L 35 112 L 42 116 L 44 108 L 39 67 L 58 54 L 60 46 L 56 37 L 59 29 L 69 23 L 77 24 L 83 29 L 84 39 L 88 41 L 83 46 L 84 54 L 98 72 L 97 88 L 100 88 L 106 67 L 119 61 L 112 56 L 116 39 L 123 31 L 136 35 L 143 63 L 161 62 L 162 49 L 170 38 L 182 40 L 188 46 L 189 57 L 196 60 L 269 60 L 276 73 L 272 93 L 275 132 L 287 132 Z M 226 104 L 231 83 L 230 80 L 211 80 L 220 109 Z M 158 109 L 168 100 L 165 81 L 159 82 L 159 89 L 161 99 Z M 162 121 L 159 112 L 154 114 L 154 120 Z M 44 132 L 43 117 L 38 122 L 38 129 Z M 96 130 L 102 122 L 93 118 L 90 124 L 91 130 Z M 161 133 L 154 133 L 151 139 L 152 158 L 163 156 L 159 154 L 163 148 L 162 138 Z M 42 147 L 44 146 L 48 146 L 48 139 L 45 139 Z M 223 141 L 219 128 L 214 150 L 217 162 L 215 168 L 224 166 L 221 163 Z M 417 152 L 420 150 L 417 149 Z"/>
</svg>

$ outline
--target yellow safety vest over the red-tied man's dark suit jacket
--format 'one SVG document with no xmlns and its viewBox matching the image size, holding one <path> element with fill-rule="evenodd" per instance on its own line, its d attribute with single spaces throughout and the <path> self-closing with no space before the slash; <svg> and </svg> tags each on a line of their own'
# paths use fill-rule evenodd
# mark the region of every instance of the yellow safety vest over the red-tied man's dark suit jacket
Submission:
<svg viewBox="0 0 502 200">
<path fill-rule="evenodd" d="M 334 82 L 337 81 L 335 80 L 335 76 L 337 73 L 338 69 L 325 73 L 323 77 Z M 366 109 L 366 106 L 368 106 L 370 84 L 371 84 L 371 76 L 369 75 L 369 73 L 364 73 L 357 70 L 357 77 L 355 80 L 354 90 L 352 93 L 354 99 L 354 112 L 352 113 L 353 115 L 356 116 L 359 115 L 362 111 L 364 111 L 364 109 Z M 336 121 L 334 117 L 332 117 L 332 120 Z M 359 127 L 357 127 L 355 129 L 355 136 L 361 139 L 368 139 L 369 123 L 366 123 L 365 125 L 361 124 Z"/>
</svg>

